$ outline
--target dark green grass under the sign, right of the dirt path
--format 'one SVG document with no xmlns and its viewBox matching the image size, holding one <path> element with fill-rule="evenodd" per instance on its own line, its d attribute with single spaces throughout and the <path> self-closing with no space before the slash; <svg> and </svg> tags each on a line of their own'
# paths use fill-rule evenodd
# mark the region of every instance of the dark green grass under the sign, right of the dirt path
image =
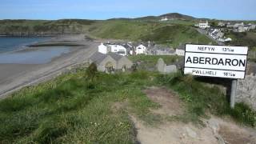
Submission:
<svg viewBox="0 0 256 144">
<path fill-rule="evenodd" d="M 178 92 L 179 97 L 186 102 L 186 113 L 177 119 L 183 122 L 201 122 L 207 118 L 206 113 L 218 116 L 230 115 L 237 122 L 248 126 L 256 126 L 256 112 L 244 103 L 237 103 L 234 109 L 226 101 L 226 95 L 218 86 L 207 86 L 206 82 L 181 73 L 161 75 L 159 82 Z M 209 83 L 210 79 L 206 79 Z M 224 83 L 224 82 L 222 82 Z"/>
</svg>

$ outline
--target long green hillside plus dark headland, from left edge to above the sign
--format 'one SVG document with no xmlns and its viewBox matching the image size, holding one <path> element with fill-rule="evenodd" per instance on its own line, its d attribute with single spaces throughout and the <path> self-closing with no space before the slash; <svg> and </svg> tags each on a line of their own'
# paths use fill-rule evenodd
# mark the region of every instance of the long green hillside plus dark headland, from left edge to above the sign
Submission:
<svg viewBox="0 0 256 144">
<path fill-rule="evenodd" d="M 131 41 L 154 41 L 160 44 L 178 46 L 184 42 L 209 43 L 210 39 L 194 30 L 192 21 L 172 20 L 168 22 L 134 19 L 112 19 L 90 21 L 63 19 L 58 21 L 41 20 L 2 20 L 0 34 L 44 35 L 44 34 L 91 34 L 98 38 L 125 39 Z"/>
</svg>

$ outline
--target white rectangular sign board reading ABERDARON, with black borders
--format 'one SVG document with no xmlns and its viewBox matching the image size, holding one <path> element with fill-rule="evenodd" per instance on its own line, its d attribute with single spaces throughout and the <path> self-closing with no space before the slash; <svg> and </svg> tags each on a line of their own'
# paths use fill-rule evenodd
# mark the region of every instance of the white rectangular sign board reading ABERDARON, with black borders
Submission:
<svg viewBox="0 0 256 144">
<path fill-rule="evenodd" d="M 248 47 L 186 44 L 184 74 L 242 79 Z"/>
</svg>

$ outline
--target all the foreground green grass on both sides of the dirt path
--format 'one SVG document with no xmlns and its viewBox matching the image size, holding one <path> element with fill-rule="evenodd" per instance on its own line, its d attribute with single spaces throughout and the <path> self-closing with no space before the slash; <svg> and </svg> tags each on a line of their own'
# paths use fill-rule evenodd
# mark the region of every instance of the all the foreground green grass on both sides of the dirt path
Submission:
<svg viewBox="0 0 256 144">
<path fill-rule="evenodd" d="M 149 86 L 175 90 L 186 103 L 186 113 L 169 121 L 200 124 L 210 111 L 255 126 L 256 114 L 249 107 L 238 104 L 230 110 L 217 86 L 191 76 L 77 70 L 1 100 L 0 143 L 135 143 L 130 114 L 151 126 L 166 119 L 150 112 L 159 105 L 142 92 Z"/>
</svg>

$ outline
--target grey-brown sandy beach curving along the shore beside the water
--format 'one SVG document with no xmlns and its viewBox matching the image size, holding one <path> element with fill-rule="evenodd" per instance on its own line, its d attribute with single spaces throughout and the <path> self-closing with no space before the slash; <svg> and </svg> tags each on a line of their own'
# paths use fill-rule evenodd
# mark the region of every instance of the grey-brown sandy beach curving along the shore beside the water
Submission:
<svg viewBox="0 0 256 144">
<path fill-rule="evenodd" d="M 5 98 L 15 90 L 24 86 L 46 81 L 69 69 L 70 66 L 86 62 L 91 54 L 97 51 L 100 42 L 88 40 L 84 35 L 66 35 L 51 38 L 49 42 L 39 44 L 56 44 L 70 46 L 70 53 L 53 58 L 44 64 L 0 64 L 0 98 Z M 78 46 L 75 46 L 78 45 Z M 30 50 L 40 49 L 40 46 L 30 47 Z"/>
</svg>

